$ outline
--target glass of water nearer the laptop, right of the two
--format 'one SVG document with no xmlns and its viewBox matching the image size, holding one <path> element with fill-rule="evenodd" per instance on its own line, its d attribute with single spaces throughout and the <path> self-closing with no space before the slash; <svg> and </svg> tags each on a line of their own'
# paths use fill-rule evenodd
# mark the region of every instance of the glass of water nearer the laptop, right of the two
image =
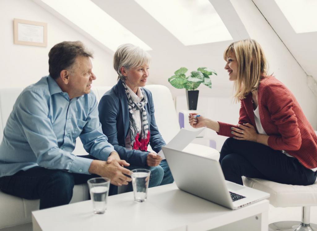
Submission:
<svg viewBox="0 0 317 231">
<path fill-rule="evenodd" d="M 149 187 L 151 171 L 148 169 L 133 169 L 132 187 L 134 193 L 134 201 L 144 202 L 147 199 L 147 188 Z"/>
</svg>

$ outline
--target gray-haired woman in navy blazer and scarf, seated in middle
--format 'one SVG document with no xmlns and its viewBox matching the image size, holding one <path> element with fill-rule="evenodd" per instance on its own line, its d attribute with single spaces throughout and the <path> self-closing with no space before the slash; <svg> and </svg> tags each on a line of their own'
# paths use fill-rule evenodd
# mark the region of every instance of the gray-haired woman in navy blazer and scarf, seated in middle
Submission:
<svg viewBox="0 0 317 231">
<path fill-rule="evenodd" d="M 157 155 L 166 143 L 154 117 L 152 93 L 144 88 L 151 56 L 132 44 L 121 45 L 114 54 L 118 83 L 100 99 L 98 110 L 102 130 L 130 170 L 151 171 L 149 187 L 174 181 L 166 160 Z M 148 152 L 151 145 L 154 152 Z"/>
</svg>

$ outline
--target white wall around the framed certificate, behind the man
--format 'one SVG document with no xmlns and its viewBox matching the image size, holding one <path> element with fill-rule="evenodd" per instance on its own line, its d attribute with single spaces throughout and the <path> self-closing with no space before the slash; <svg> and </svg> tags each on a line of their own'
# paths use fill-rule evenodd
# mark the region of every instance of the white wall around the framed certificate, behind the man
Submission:
<svg viewBox="0 0 317 231">
<path fill-rule="evenodd" d="M 80 40 L 94 52 L 93 71 L 97 79 L 94 86 L 112 86 L 117 75 L 112 68 L 113 54 L 107 53 L 70 26 L 44 10 L 31 0 L 0 1 L 0 75 L 1 88 L 26 87 L 49 73 L 48 53 L 62 41 Z M 83 14 L 84 15 L 84 14 Z M 13 43 L 13 19 L 48 23 L 48 46 L 27 46 Z"/>
</svg>

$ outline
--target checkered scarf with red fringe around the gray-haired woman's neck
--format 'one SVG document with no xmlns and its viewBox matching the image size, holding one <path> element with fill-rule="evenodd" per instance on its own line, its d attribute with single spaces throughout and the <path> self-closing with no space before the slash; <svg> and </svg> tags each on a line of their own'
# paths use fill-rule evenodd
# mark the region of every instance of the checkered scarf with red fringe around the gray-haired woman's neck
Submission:
<svg viewBox="0 0 317 231">
<path fill-rule="evenodd" d="M 129 107 L 129 128 L 130 128 L 130 139 L 131 139 L 131 147 L 136 150 L 141 151 L 147 151 L 147 145 L 150 141 L 150 131 L 149 131 L 149 123 L 147 121 L 147 114 L 145 110 L 145 105 L 147 104 L 147 98 L 144 94 L 143 88 L 139 88 L 142 92 L 143 99 L 141 102 L 135 102 L 130 93 L 129 90 L 126 87 L 126 83 L 121 80 L 122 85 L 126 91 L 126 97 L 128 100 L 128 107 Z M 140 113 L 142 115 L 142 129 L 141 129 L 141 137 L 139 137 L 139 133 L 137 133 L 137 125 L 135 123 L 135 117 L 133 115 L 133 109 L 140 110 Z M 141 139 L 140 139 L 141 138 Z"/>
</svg>

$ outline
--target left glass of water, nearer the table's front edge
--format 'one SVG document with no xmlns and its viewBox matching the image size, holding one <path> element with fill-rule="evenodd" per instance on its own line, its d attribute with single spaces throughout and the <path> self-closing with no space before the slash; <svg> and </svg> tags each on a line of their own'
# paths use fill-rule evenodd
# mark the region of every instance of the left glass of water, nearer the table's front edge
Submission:
<svg viewBox="0 0 317 231">
<path fill-rule="evenodd" d="M 107 197 L 109 193 L 110 179 L 106 177 L 92 178 L 87 181 L 90 198 L 93 202 L 94 213 L 103 214 L 107 209 Z"/>
</svg>

